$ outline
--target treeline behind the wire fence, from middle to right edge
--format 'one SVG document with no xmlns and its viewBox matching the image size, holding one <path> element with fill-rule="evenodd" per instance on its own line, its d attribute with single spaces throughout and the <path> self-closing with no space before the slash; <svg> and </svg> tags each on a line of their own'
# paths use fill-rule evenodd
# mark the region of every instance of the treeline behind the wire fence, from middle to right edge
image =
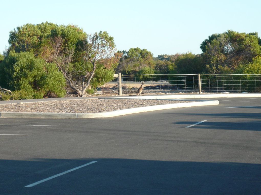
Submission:
<svg viewBox="0 0 261 195">
<path fill-rule="evenodd" d="M 204 40 L 201 54 L 153 54 L 140 48 L 121 51 L 116 68 L 122 74 L 261 74 L 261 39 L 258 33 L 232 30 Z"/>
</svg>

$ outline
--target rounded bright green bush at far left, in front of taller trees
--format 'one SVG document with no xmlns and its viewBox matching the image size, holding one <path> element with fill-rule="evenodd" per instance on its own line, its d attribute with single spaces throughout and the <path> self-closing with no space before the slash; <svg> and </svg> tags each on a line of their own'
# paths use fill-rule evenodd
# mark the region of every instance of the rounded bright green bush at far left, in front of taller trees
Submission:
<svg viewBox="0 0 261 195">
<path fill-rule="evenodd" d="M 65 80 L 53 63 L 46 63 L 32 53 L 10 51 L 0 64 L 4 88 L 14 90 L 14 99 L 63 97 Z"/>
</svg>

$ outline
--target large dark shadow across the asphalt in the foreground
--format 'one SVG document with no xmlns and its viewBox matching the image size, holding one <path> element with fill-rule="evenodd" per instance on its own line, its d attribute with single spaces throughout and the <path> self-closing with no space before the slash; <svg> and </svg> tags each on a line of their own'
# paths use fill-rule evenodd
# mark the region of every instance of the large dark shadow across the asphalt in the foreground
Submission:
<svg viewBox="0 0 261 195">
<path fill-rule="evenodd" d="M 90 161 L 94 164 L 25 187 Z M 261 165 L 136 159 L 0 160 L 1 194 L 260 194 Z"/>
</svg>

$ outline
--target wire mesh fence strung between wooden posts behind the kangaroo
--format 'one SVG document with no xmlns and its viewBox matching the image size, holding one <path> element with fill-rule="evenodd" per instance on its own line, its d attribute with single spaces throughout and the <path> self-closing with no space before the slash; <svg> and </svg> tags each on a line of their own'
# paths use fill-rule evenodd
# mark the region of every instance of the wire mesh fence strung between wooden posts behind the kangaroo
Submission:
<svg viewBox="0 0 261 195">
<path fill-rule="evenodd" d="M 135 94 L 144 81 L 143 94 L 257 93 L 261 91 L 261 75 L 188 74 L 188 75 L 121 75 L 122 94 Z M 118 78 L 97 88 L 98 94 L 118 94 Z"/>
</svg>

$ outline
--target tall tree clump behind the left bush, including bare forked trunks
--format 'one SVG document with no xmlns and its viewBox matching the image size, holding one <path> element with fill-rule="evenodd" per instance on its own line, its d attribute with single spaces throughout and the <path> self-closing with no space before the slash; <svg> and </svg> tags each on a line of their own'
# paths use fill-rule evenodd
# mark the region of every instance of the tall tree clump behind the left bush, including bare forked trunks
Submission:
<svg viewBox="0 0 261 195">
<path fill-rule="evenodd" d="M 114 63 L 112 70 L 108 64 L 102 64 L 108 62 L 103 59 L 118 59 L 118 55 L 114 56 L 113 37 L 106 32 L 88 35 L 75 25 L 26 24 L 10 32 L 9 44 L 7 53 L 28 51 L 46 62 L 56 63 L 67 81 L 68 90 L 73 89 L 79 96 L 86 95 L 86 89 L 97 85 L 97 81 L 106 82 L 110 77 L 106 74 L 111 74 L 117 66 Z"/>
</svg>

